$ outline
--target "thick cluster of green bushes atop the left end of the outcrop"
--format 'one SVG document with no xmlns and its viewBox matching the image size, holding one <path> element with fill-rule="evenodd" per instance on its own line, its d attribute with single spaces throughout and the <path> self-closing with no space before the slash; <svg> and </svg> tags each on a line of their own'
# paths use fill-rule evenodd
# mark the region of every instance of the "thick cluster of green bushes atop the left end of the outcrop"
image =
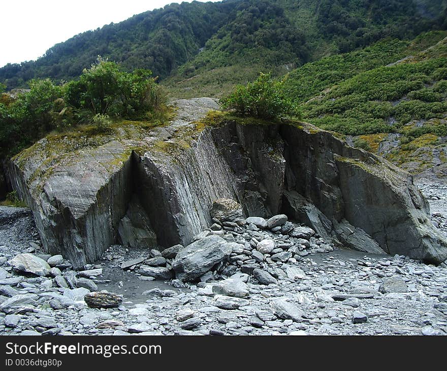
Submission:
<svg viewBox="0 0 447 371">
<path fill-rule="evenodd" d="M 31 80 L 29 91 L 0 96 L 0 156 L 17 153 L 46 133 L 93 124 L 107 132 L 112 120 L 163 119 L 165 99 L 151 71 L 124 72 L 101 57 L 78 80 L 55 85 Z"/>
</svg>

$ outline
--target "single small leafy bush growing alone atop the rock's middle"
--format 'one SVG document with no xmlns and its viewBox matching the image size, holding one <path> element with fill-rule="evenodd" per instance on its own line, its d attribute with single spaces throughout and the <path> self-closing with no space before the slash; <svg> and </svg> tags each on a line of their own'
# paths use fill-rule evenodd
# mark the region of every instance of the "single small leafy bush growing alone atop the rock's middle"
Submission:
<svg viewBox="0 0 447 371">
<path fill-rule="evenodd" d="M 223 108 L 232 109 L 240 116 L 274 119 L 283 115 L 298 115 L 295 104 L 285 97 L 282 83 L 272 80 L 270 73 L 260 73 L 257 80 L 246 86 L 238 85 L 221 102 Z"/>
</svg>

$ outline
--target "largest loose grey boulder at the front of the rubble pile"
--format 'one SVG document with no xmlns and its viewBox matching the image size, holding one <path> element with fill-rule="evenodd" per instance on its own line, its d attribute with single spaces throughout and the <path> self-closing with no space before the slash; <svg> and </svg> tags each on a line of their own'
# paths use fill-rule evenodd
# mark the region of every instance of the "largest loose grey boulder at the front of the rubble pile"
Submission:
<svg viewBox="0 0 447 371">
<path fill-rule="evenodd" d="M 227 259 L 232 251 L 231 243 L 225 239 L 208 236 L 180 250 L 172 262 L 172 268 L 177 279 L 183 282 L 194 281 L 214 265 Z"/>
</svg>

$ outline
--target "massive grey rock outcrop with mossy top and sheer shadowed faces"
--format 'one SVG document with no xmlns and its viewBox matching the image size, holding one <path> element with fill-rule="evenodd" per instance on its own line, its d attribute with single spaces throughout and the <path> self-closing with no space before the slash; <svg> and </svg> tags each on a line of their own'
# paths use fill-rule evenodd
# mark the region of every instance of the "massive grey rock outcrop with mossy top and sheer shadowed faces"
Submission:
<svg viewBox="0 0 447 371">
<path fill-rule="evenodd" d="M 216 102 L 177 105 L 165 127 L 128 130 L 122 139 L 52 153 L 51 161 L 43 139 L 13 159 L 11 183 L 31 205 L 48 252 L 76 267 L 98 259 L 131 223 L 131 200 L 158 246 L 187 245 L 211 224 L 213 201 L 230 198 L 246 216 L 285 213 L 361 251 L 447 258 L 408 173 L 307 124 L 227 121 L 198 130 L 194 121 Z"/>
</svg>

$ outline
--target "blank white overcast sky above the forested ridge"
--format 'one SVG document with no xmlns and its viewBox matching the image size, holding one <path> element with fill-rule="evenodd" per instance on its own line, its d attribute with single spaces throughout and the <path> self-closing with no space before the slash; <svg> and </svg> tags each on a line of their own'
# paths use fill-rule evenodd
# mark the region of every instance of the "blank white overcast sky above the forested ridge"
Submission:
<svg viewBox="0 0 447 371">
<path fill-rule="evenodd" d="M 96 29 L 111 22 L 118 23 L 135 14 L 181 2 L 181 0 L 1 0 L 0 67 L 7 63 L 35 60 L 54 44 L 66 41 L 89 29 Z"/>
</svg>

